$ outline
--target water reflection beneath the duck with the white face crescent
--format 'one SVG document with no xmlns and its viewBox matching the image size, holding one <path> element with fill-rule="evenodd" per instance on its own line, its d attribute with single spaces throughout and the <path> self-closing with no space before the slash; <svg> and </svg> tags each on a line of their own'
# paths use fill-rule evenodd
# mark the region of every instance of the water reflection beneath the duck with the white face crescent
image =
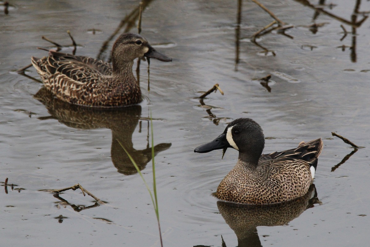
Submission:
<svg viewBox="0 0 370 247">
<path fill-rule="evenodd" d="M 320 204 L 314 184 L 303 197 L 266 205 L 246 205 L 217 201 L 222 217 L 235 232 L 238 247 L 261 247 L 258 226 L 283 226 L 297 218 L 313 204 Z M 226 244 L 223 245 L 226 247 Z"/>
</svg>

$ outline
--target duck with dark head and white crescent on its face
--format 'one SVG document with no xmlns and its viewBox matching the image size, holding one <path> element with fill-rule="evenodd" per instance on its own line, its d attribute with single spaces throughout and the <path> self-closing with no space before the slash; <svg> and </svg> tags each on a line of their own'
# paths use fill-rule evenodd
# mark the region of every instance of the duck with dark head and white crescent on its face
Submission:
<svg viewBox="0 0 370 247">
<path fill-rule="evenodd" d="M 205 153 L 228 147 L 239 150 L 238 162 L 217 188 L 216 196 L 221 200 L 272 204 L 305 195 L 323 147 L 321 138 L 272 154 L 262 154 L 264 146 L 262 128 L 252 119 L 242 118 L 232 121 L 219 137 L 194 151 Z"/>
</svg>

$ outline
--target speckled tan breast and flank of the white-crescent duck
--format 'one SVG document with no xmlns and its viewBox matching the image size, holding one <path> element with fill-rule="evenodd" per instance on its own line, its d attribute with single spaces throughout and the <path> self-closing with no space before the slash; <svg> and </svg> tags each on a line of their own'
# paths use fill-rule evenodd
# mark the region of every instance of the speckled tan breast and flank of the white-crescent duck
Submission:
<svg viewBox="0 0 370 247">
<path fill-rule="evenodd" d="M 216 196 L 235 203 L 281 203 L 305 195 L 312 181 L 309 164 L 303 160 L 257 168 L 239 160 L 219 184 Z"/>
</svg>

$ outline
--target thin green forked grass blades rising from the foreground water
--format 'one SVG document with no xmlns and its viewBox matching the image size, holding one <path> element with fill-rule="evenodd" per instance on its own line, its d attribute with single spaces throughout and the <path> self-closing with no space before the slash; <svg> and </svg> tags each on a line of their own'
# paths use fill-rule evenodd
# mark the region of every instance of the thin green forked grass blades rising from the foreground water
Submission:
<svg viewBox="0 0 370 247">
<path fill-rule="evenodd" d="M 159 210 L 158 210 L 158 198 L 157 198 L 157 183 L 155 182 L 155 162 L 154 162 L 154 136 L 153 136 L 153 122 L 152 122 L 152 113 L 150 113 L 150 127 L 151 127 L 151 135 L 152 135 L 152 172 L 153 172 L 153 193 L 150 190 L 147 182 L 145 181 L 144 176 L 142 176 L 142 173 L 136 164 L 135 160 L 132 158 L 132 156 L 128 153 L 126 148 L 122 145 L 121 141 L 117 139 L 118 143 L 120 143 L 123 150 L 126 152 L 128 158 L 131 160 L 131 163 L 135 166 L 135 169 L 139 173 L 142 181 L 144 181 L 145 187 L 147 187 L 147 190 L 149 192 L 150 198 L 153 203 L 155 215 L 157 216 L 157 222 L 158 222 L 158 230 L 159 230 L 159 239 L 161 241 L 161 247 L 163 247 L 163 241 L 162 241 L 162 233 L 161 233 L 161 224 L 159 223 Z"/>
</svg>

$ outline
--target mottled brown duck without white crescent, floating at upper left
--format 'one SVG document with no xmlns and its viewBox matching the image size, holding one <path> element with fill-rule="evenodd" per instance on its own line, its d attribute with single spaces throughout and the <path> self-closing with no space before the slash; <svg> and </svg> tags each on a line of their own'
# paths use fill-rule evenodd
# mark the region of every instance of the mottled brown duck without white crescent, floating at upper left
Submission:
<svg viewBox="0 0 370 247">
<path fill-rule="evenodd" d="M 132 73 L 134 59 L 152 57 L 172 61 L 137 34 L 122 34 L 112 47 L 112 65 L 90 57 L 50 50 L 47 57 L 31 57 L 44 86 L 58 99 L 90 107 L 121 107 L 142 101 Z"/>
</svg>

